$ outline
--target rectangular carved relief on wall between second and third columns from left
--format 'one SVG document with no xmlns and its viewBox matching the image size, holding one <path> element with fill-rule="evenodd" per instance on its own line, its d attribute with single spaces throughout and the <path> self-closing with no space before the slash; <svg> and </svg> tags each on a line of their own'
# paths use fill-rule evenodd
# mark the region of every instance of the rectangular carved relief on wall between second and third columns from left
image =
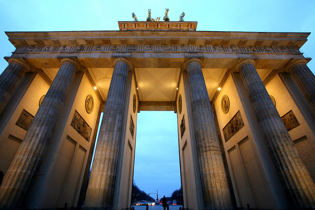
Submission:
<svg viewBox="0 0 315 210">
<path fill-rule="evenodd" d="M 77 112 L 74 112 L 71 126 L 74 128 L 85 140 L 89 141 L 92 128 L 88 125 L 87 122 L 83 119 L 83 117 Z"/>
</svg>

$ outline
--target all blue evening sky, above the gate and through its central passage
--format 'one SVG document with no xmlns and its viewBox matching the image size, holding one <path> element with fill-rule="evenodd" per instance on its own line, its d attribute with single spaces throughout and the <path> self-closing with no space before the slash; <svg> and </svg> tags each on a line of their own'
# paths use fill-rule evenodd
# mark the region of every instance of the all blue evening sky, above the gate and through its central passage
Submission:
<svg viewBox="0 0 315 210">
<path fill-rule="evenodd" d="M 0 57 L 14 46 L 4 31 L 106 31 L 119 30 L 117 21 L 143 21 L 169 8 L 169 18 L 198 21 L 198 31 L 312 32 L 301 48 L 315 58 L 315 1 L 0 1 Z M 0 59 L 0 73 L 8 63 Z M 315 61 L 308 63 L 315 71 Z M 147 193 L 168 196 L 180 187 L 176 115 L 174 112 L 138 114 L 134 179 Z M 165 148 L 163 150 L 163 147 Z M 154 196 L 153 196 L 154 197 Z"/>
</svg>

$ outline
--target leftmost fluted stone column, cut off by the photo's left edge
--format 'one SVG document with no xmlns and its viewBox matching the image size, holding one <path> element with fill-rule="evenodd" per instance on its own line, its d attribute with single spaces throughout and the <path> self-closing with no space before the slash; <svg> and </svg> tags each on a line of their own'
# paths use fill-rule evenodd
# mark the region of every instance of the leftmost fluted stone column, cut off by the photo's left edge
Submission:
<svg viewBox="0 0 315 210">
<path fill-rule="evenodd" d="M 30 66 L 24 61 L 11 58 L 8 67 L 0 75 L 0 113 L 7 104 L 16 86 Z"/>
</svg>

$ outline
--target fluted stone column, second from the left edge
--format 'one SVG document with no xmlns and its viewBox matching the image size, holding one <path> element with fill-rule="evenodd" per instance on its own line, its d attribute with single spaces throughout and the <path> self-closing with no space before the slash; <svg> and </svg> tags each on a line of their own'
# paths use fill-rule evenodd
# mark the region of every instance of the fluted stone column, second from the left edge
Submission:
<svg viewBox="0 0 315 210">
<path fill-rule="evenodd" d="M 78 69 L 79 65 L 74 60 L 67 58 L 61 60 L 61 67 L 4 176 L 0 188 L 0 207 L 24 205 Z"/>
</svg>

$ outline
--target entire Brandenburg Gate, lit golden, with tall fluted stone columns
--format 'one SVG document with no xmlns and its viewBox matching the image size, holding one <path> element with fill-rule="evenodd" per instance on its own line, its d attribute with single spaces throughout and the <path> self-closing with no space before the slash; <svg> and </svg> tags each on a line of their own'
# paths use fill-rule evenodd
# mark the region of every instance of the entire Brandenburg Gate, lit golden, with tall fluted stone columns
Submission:
<svg viewBox="0 0 315 210">
<path fill-rule="evenodd" d="M 140 111 L 177 113 L 184 209 L 315 208 L 310 33 L 118 25 L 6 32 L 2 209 L 129 209 Z"/>
</svg>

